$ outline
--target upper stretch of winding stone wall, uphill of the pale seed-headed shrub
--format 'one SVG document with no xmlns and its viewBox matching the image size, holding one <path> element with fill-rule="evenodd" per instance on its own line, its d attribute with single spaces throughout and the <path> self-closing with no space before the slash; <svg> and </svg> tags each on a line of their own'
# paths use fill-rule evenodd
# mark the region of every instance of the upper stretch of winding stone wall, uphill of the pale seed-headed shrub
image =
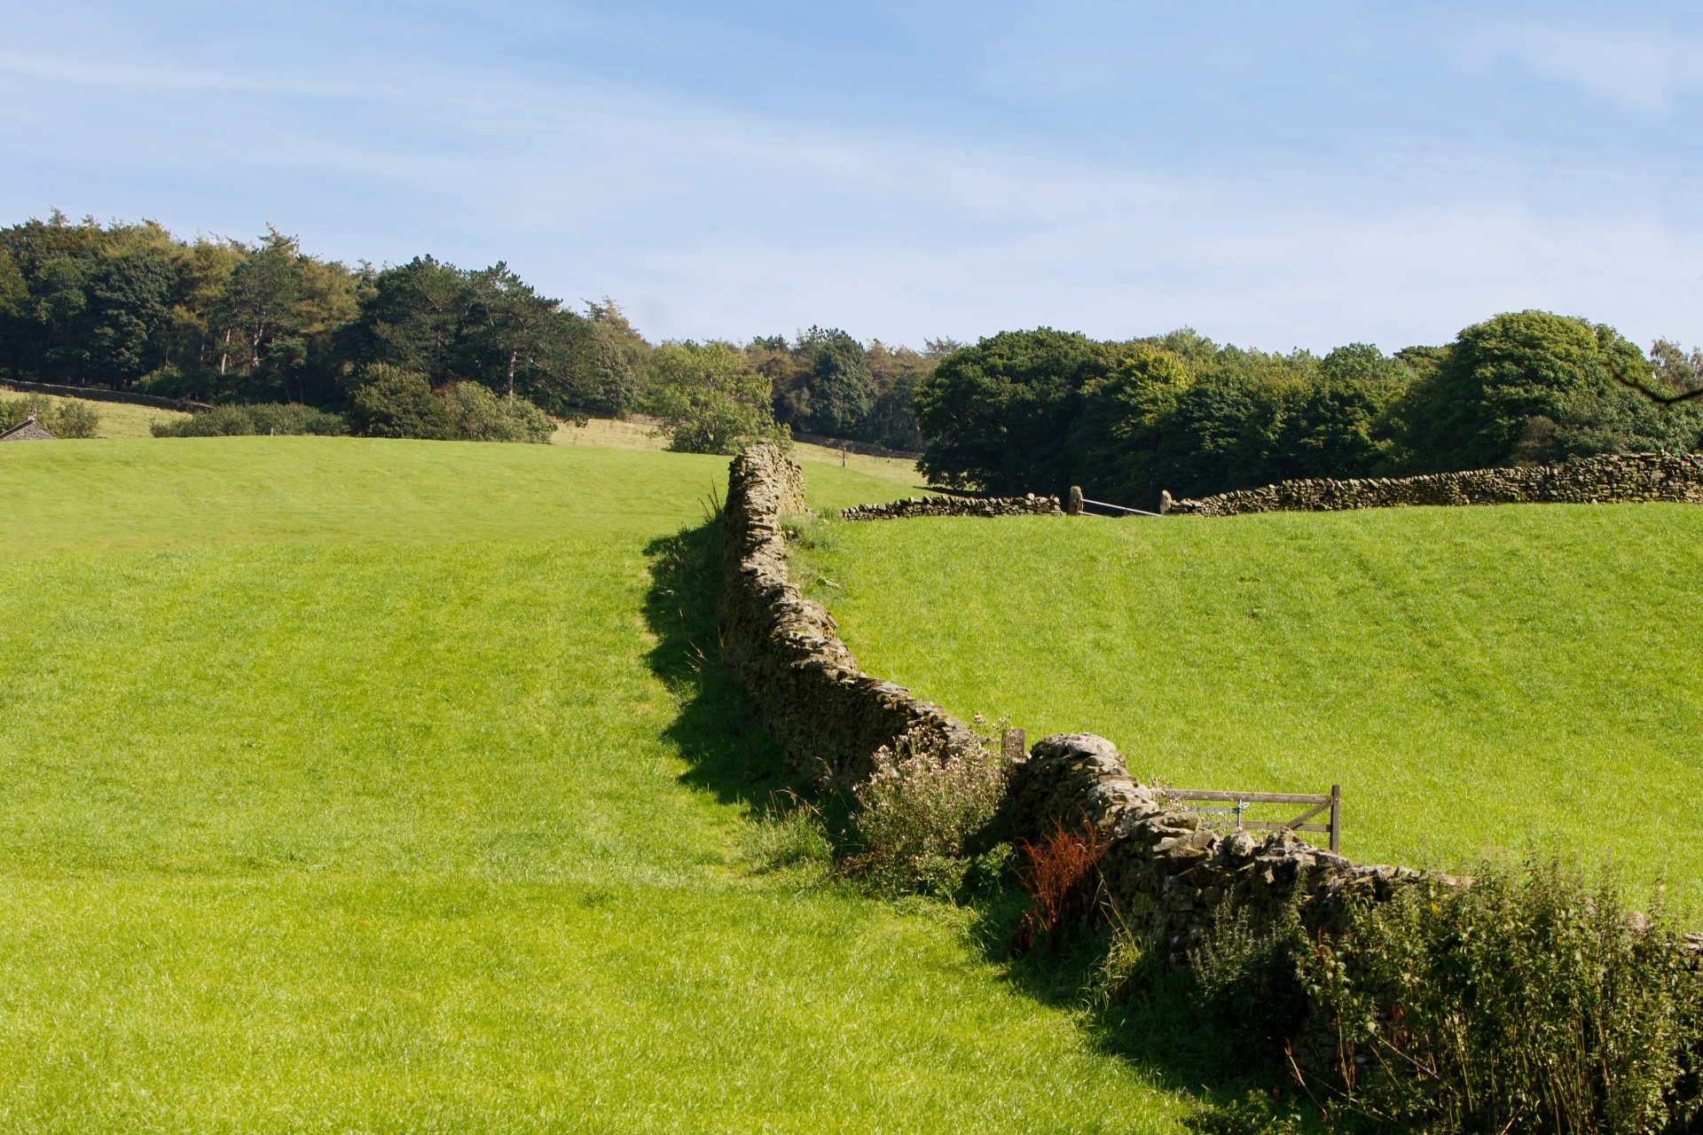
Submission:
<svg viewBox="0 0 1703 1135">
<path fill-rule="evenodd" d="M 865 674 L 834 618 L 787 579 L 780 517 L 804 512 L 804 470 L 777 446 L 741 453 L 727 475 L 724 652 L 794 769 L 852 783 L 899 735 L 974 747 L 967 725 L 911 691 Z"/>
</svg>

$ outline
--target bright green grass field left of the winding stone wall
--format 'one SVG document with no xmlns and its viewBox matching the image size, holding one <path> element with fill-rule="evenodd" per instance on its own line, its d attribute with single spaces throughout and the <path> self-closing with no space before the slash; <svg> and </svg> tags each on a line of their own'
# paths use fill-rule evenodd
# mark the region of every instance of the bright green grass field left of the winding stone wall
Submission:
<svg viewBox="0 0 1703 1135">
<path fill-rule="evenodd" d="M 741 858 L 775 754 L 657 575 L 724 480 L 0 448 L 0 1132 L 1167 1130 L 945 909 Z"/>
</svg>

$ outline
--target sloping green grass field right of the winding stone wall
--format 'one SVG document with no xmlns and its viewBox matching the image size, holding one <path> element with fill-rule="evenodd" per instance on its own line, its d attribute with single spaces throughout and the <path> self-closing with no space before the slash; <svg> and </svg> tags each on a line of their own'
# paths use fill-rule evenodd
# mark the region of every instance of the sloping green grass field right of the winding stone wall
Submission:
<svg viewBox="0 0 1703 1135">
<path fill-rule="evenodd" d="M 1344 786 L 1344 851 L 1563 842 L 1703 895 L 1703 509 L 833 526 L 863 667 L 1180 788 Z M 1287 818 L 1287 817 L 1282 817 Z"/>
</svg>

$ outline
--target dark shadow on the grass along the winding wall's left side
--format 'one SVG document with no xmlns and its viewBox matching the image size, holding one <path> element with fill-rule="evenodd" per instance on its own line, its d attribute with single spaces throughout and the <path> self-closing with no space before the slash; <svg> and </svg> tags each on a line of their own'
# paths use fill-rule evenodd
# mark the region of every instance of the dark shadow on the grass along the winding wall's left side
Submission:
<svg viewBox="0 0 1703 1135">
<path fill-rule="evenodd" d="M 724 803 L 773 807 L 787 790 L 802 786 L 788 781 L 780 747 L 758 725 L 744 684 L 720 659 L 725 570 L 720 517 L 707 516 L 697 528 L 654 539 L 645 555 L 651 562 L 645 621 L 656 636 L 647 660 L 679 698 L 679 716 L 668 737 L 690 766 L 683 781 Z M 828 805 L 829 829 L 838 829 L 843 839 L 843 803 L 821 803 Z M 1132 995 L 1121 1002 L 1097 997 L 1095 990 L 1107 982 L 1112 941 L 1104 927 L 1064 948 L 1037 948 L 1012 958 L 1012 934 L 1029 900 L 1010 875 L 972 883 L 957 902 L 976 914 L 974 948 L 1001 965 L 1015 989 L 1042 1004 L 1087 1009 L 1081 1021 L 1095 1045 L 1141 1067 L 1158 1084 L 1226 1099 L 1281 1082 L 1277 1069 L 1248 1067 L 1238 1058 L 1231 1041 L 1190 997 L 1182 972 L 1150 967 Z"/>
</svg>

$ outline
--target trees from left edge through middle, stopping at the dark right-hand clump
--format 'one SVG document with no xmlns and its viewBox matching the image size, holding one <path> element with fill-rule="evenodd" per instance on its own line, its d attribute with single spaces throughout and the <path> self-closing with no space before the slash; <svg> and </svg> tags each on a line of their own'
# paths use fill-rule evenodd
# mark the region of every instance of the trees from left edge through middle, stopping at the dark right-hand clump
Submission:
<svg viewBox="0 0 1703 1135">
<path fill-rule="evenodd" d="M 536 436 L 460 385 L 555 419 L 654 412 L 676 448 L 729 451 L 790 431 L 921 449 L 916 385 L 957 344 L 794 339 L 649 344 L 611 299 L 574 310 L 506 264 L 421 255 L 349 267 L 276 230 L 182 240 L 153 221 L 0 230 L 0 376 L 220 405 L 300 403 L 356 432 Z M 436 402 L 433 402 L 436 398 Z M 262 415 L 279 424 L 324 419 Z M 523 412 L 525 417 L 525 412 Z M 254 427 L 226 412 L 177 431 Z M 545 431 L 548 432 L 548 431 Z"/>
</svg>

